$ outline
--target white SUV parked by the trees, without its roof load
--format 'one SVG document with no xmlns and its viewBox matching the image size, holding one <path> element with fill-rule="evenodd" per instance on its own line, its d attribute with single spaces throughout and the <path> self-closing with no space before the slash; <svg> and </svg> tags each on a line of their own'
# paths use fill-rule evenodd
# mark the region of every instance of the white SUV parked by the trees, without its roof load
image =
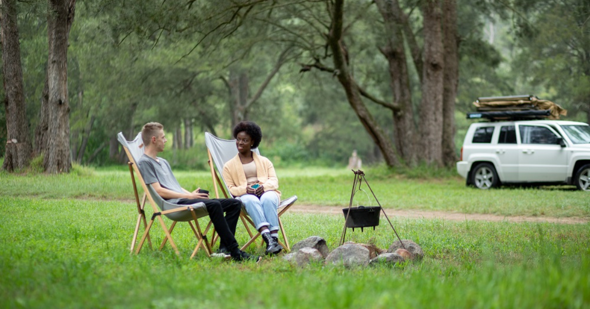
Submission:
<svg viewBox="0 0 590 309">
<path fill-rule="evenodd" d="M 472 123 L 457 172 L 467 186 L 575 184 L 590 191 L 590 126 L 534 120 Z"/>
</svg>

